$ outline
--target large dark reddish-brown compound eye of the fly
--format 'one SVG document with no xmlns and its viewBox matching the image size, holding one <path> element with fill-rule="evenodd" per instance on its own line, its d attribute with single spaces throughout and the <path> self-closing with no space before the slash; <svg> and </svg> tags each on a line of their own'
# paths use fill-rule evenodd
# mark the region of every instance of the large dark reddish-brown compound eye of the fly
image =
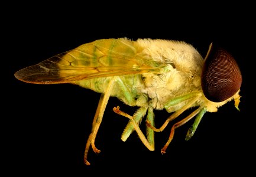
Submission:
<svg viewBox="0 0 256 177">
<path fill-rule="evenodd" d="M 203 65 L 201 85 L 205 97 L 221 102 L 240 89 L 242 75 L 235 59 L 223 48 L 210 45 Z"/>
</svg>

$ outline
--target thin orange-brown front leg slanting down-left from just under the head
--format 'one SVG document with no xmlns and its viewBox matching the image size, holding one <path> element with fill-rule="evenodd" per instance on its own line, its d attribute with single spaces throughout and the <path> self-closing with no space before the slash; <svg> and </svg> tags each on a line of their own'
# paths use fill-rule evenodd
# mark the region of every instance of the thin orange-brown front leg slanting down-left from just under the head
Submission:
<svg viewBox="0 0 256 177">
<path fill-rule="evenodd" d="M 166 149 L 168 147 L 168 145 L 171 143 L 171 140 L 173 140 L 173 136 L 174 136 L 174 129 L 176 129 L 177 127 L 182 126 L 183 124 L 187 123 L 190 119 L 192 119 L 193 117 L 196 116 L 196 114 L 201 112 L 201 108 L 199 107 L 198 109 L 196 109 L 193 113 L 189 114 L 189 116 L 187 116 L 186 118 L 184 118 L 183 120 L 180 120 L 179 122 L 175 123 L 172 127 L 171 127 L 171 133 L 170 136 L 168 138 L 168 141 L 166 142 L 166 145 L 164 145 L 164 148 L 161 149 L 161 153 L 164 154 L 166 153 Z M 198 117 L 198 116 L 197 116 Z"/>
</svg>

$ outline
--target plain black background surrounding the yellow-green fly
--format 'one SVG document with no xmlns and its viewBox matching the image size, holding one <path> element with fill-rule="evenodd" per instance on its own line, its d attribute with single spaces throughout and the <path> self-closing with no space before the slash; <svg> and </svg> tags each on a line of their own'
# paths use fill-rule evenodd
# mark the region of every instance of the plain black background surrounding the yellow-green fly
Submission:
<svg viewBox="0 0 256 177">
<path fill-rule="evenodd" d="M 250 108 L 254 90 L 254 12 L 245 5 L 195 4 L 9 4 L 2 14 L 2 136 L 4 164 L 8 173 L 24 175 L 208 175 L 249 173 L 254 164 L 255 116 Z M 184 140 L 188 122 L 176 129 L 166 154 L 161 148 L 171 124 L 155 134 L 155 151 L 150 152 L 135 133 L 122 142 L 128 119 L 112 108 L 133 114 L 111 98 L 92 149 L 83 163 L 100 94 L 71 84 L 22 83 L 15 71 L 28 65 L 102 38 L 127 37 L 180 40 L 192 44 L 204 57 L 210 42 L 226 48 L 240 66 L 241 112 L 231 101 L 216 113 L 206 113 L 189 141 Z M 5 70 L 7 69 L 7 70 Z M 251 111 L 251 113 L 249 113 Z M 189 113 L 189 112 L 187 112 Z M 186 113 L 185 113 L 186 114 Z M 155 111 L 158 126 L 168 117 Z M 142 122 L 142 127 L 144 122 Z"/>
</svg>

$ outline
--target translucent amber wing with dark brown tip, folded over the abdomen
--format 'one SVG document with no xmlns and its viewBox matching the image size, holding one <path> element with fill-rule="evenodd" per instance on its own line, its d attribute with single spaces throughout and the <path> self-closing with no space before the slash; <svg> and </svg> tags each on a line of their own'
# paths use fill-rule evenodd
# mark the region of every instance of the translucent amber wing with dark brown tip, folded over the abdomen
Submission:
<svg viewBox="0 0 256 177">
<path fill-rule="evenodd" d="M 142 50 L 137 42 L 126 38 L 97 40 L 23 68 L 15 77 L 28 83 L 54 84 L 157 72 L 161 65 Z"/>
</svg>

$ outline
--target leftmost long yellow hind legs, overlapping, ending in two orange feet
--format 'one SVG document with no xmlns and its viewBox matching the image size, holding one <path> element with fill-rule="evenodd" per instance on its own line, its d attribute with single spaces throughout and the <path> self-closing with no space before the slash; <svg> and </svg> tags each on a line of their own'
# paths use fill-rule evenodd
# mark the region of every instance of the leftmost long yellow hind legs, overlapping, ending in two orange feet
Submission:
<svg viewBox="0 0 256 177">
<path fill-rule="evenodd" d="M 86 143 L 86 146 L 85 146 L 84 161 L 85 161 L 86 165 L 90 165 L 90 163 L 87 160 L 90 145 L 92 146 L 92 149 L 95 153 L 101 152 L 101 150 L 99 150 L 95 147 L 95 138 L 98 133 L 99 126 L 101 125 L 101 122 L 102 122 L 103 113 L 106 109 L 106 104 L 108 103 L 108 100 L 109 100 L 109 97 L 111 94 L 111 90 L 113 87 L 113 83 L 114 83 L 114 78 L 111 78 L 109 80 L 108 86 L 106 87 L 106 90 L 104 91 L 104 93 L 101 94 L 101 98 L 99 99 L 98 107 L 97 107 L 95 116 L 93 118 L 92 133 L 90 133 L 87 143 Z"/>
</svg>

